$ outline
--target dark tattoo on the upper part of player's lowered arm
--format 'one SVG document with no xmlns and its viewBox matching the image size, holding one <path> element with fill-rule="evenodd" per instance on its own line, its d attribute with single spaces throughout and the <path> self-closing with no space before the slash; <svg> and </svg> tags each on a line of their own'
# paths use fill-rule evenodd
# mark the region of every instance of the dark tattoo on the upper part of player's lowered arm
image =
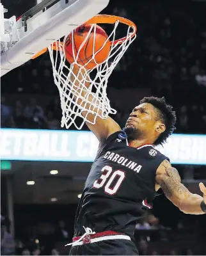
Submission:
<svg viewBox="0 0 206 256">
<path fill-rule="evenodd" d="M 164 166 L 166 173 L 159 175 L 159 178 L 157 175 L 157 182 L 164 191 L 164 195 L 171 198 L 175 193 L 178 193 L 178 195 L 189 198 L 190 192 L 183 184 L 180 183 L 181 179 L 177 170 L 173 168 L 167 160 L 163 161 L 162 165 Z"/>
</svg>

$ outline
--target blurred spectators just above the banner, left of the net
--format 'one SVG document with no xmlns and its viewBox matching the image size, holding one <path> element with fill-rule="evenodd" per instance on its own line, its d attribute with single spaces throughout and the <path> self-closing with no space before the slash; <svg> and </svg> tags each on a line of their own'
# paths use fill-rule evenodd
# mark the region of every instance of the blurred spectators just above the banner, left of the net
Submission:
<svg viewBox="0 0 206 256">
<path fill-rule="evenodd" d="M 1 95 L 1 127 L 59 129 L 60 120 L 61 106 L 57 97 L 44 109 L 33 97 L 26 106 L 19 99 L 11 106 L 6 104 L 6 97 Z"/>
</svg>

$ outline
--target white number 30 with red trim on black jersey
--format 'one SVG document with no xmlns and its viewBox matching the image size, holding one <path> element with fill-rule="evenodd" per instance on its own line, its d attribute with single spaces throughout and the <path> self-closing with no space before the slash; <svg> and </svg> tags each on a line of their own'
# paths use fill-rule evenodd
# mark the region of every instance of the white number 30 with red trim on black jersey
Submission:
<svg viewBox="0 0 206 256">
<path fill-rule="evenodd" d="M 122 170 L 116 170 L 113 172 L 113 168 L 109 165 L 104 166 L 101 172 L 101 177 L 93 182 L 93 188 L 102 188 L 104 186 L 104 192 L 106 194 L 115 195 L 125 179 L 125 172 Z M 114 180 L 115 182 L 113 182 Z"/>
</svg>

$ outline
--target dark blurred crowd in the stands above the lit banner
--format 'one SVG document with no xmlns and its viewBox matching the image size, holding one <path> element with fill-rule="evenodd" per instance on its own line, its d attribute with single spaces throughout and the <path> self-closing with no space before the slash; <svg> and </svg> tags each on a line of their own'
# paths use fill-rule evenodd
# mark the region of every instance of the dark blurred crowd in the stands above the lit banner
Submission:
<svg viewBox="0 0 206 256">
<path fill-rule="evenodd" d="M 136 8 L 125 8 L 123 1 L 115 3 L 111 1 L 104 12 L 134 21 L 138 38 L 115 68 L 108 88 L 149 88 L 152 95 L 164 96 L 174 106 L 176 132 L 205 133 L 205 3 L 183 1 L 166 5 L 162 1 L 137 1 Z M 124 35 L 123 29 L 117 29 L 118 37 Z M 60 129 L 59 93 L 48 53 L 3 76 L 1 91 L 15 95 L 9 100 L 4 96 L 1 99 L 2 127 Z M 28 93 L 33 97 L 22 101 L 22 95 Z M 51 95 L 54 99 L 45 106 L 39 95 Z M 111 104 L 115 108 L 115 102 L 111 100 Z M 113 117 L 123 127 L 129 111 L 120 104 L 116 110 Z"/>
</svg>

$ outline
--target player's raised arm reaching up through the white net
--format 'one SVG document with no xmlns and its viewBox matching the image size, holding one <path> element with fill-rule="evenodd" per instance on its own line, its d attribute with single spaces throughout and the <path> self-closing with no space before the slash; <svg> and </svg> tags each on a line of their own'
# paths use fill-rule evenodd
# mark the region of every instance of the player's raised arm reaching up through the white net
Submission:
<svg viewBox="0 0 206 256">
<path fill-rule="evenodd" d="M 93 106 L 90 104 L 92 100 L 96 101 L 96 105 L 98 105 L 97 99 L 93 99 L 93 95 L 90 93 L 90 95 L 87 95 L 85 90 L 83 89 L 83 86 L 79 85 L 79 81 L 81 80 L 83 75 L 84 75 L 84 70 L 81 69 L 81 72 L 79 72 L 78 67 L 74 67 L 72 72 L 74 74 L 71 75 L 70 79 L 71 81 L 74 82 L 74 99 L 77 100 L 79 105 L 84 105 L 85 109 L 90 109 L 93 111 L 100 111 L 97 108 L 93 108 Z M 75 76 L 74 76 L 75 75 Z M 77 77 L 77 79 L 75 79 Z M 84 85 L 89 88 L 90 83 L 88 82 L 89 79 L 86 79 Z M 75 92 L 78 92 L 81 97 L 78 97 L 75 95 Z M 87 111 L 83 111 L 82 113 L 83 116 L 87 116 L 88 120 L 93 122 L 95 115 L 89 113 Z M 118 125 L 115 120 L 111 117 L 107 117 L 106 119 L 102 119 L 99 116 L 96 119 L 96 122 L 94 125 L 86 122 L 88 125 L 89 129 L 97 136 L 98 140 L 106 139 L 109 137 L 109 135 L 113 134 L 114 132 L 120 131 L 120 125 Z"/>
</svg>

